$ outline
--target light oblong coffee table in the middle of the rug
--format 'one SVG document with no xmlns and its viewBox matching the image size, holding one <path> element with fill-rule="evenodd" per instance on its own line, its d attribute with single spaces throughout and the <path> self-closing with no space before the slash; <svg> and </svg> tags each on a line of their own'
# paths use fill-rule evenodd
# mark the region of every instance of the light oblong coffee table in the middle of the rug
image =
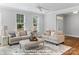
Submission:
<svg viewBox="0 0 79 59">
<path fill-rule="evenodd" d="M 44 40 L 42 38 L 38 38 L 38 41 L 30 41 L 29 39 L 21 40 L 19 42 L 21 49 L 32 49 L 35 47 L 35 49 L 38 49 L 37 46 L 40 48 L 44 46 Z M 41 45 L 42 44 L 42 45 Z"/>
</svg>

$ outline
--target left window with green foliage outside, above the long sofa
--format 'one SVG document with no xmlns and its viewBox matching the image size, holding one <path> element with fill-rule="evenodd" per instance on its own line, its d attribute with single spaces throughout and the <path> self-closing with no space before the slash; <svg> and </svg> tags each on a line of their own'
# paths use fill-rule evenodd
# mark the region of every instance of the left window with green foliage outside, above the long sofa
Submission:
<svg viewBox="0 0 79 59">
<path fill-rule="evenodd" d="M 17 14 L 17 30 L 24 29 L 24 15 Z"/>
</svg>

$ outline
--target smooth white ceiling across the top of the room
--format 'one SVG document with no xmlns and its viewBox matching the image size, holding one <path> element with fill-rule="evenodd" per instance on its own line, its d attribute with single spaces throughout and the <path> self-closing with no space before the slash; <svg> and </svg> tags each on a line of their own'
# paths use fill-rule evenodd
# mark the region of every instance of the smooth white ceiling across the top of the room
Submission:
<svg viewBox="0 0 79 59">
<path fill-rule="evenodd" d="M 33 12 L 39 12 L 37 6 L 49 9 L 50 11 L 56 11 L 74 6 L 79 6 L 78 3 L 4 3 L 0 5 Z"/>
</svg>

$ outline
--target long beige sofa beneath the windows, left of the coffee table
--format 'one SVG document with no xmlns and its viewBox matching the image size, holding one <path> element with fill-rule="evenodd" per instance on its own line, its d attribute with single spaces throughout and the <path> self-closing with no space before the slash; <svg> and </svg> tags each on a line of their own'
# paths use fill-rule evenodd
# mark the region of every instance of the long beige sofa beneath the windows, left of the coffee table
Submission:
<svg viewBox="0 0 79 59">
<path fill-rule="evenodd" d="M 16 33 L 16 37 L 11 37 L 11 35 L 9 35 L 9 45 L 12 44 L 17 44 L 19 43 L 20 40 L 25 40 L 29 38 L 29 35 L 27 35 L 25 33 L 25 31 L 21 31 L 21 32 L 15 32 Z"/>
</svg>

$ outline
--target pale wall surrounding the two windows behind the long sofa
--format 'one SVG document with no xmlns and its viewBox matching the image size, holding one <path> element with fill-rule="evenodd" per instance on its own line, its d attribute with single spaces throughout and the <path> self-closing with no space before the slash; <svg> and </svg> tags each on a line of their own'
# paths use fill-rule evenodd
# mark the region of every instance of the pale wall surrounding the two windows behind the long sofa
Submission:
<svg viewBox="0 0 79 59">
<path fill-rule="evenodd" d="M 27 12 L 23 10 L 13 10 L 13 9 L 5 9 L 1 8 L 0 13 L 2 14 L 2 25 L 8 26 L 8 31 L 16 31 L 17 30 L 17 22 L 16 22 L 16 14 L 24 14 L 24 29 L 31 30 L 32 27 L 32 17 L 37 15 L 40 19 L 40 33 L 44 31 L 44 17 L 42 14 L 37 14 L 33 12 Z M 42 26 L 42 27 L 41 27 Z"/>
</svg>

